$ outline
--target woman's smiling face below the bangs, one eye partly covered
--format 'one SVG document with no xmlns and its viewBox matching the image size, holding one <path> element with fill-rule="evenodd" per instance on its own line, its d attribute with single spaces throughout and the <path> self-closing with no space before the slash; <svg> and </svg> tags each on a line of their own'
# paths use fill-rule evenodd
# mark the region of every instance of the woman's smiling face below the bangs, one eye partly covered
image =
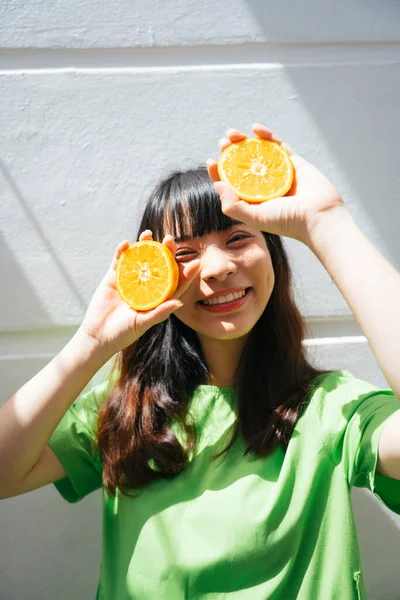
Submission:
<svg viewBox="0 0 400 600">
<path fill-rule="evenodd" d="M 178 263 L 200 260 L 198 274 L 180 297 L 184 306 L 175 316 L 200 339 L 231 340 L 248 334 L 267 306 L 275 282 L 261 231 L 240 223 L 175 241 Z"/>
</svg>

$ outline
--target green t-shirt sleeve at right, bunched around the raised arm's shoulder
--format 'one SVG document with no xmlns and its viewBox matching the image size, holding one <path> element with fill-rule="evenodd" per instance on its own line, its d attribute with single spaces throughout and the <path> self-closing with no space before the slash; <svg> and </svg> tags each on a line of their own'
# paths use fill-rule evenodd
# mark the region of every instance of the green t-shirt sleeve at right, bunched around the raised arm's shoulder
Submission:
<svg viewBox="0 0 400 600">
<path fill-rule="evenodd" d="M 337 371 L 322 383 L 320 420 L 323 444 L 349 485 L 368 488 L 400 514 L 400 481 L 376 472 L 379 438 L 385 423 L 400 410 L 392 390 L 381 390 Z"/>
</svg>

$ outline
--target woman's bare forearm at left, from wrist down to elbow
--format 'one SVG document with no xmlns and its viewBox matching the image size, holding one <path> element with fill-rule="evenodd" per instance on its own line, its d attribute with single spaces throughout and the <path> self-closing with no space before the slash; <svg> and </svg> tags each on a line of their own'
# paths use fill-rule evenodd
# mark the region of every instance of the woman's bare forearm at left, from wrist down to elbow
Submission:
<svg viewBox="0 0 400 600">
<path fill-rule="evenodd" d="M 0 482 L 20 481 L 107 356 L 80 331 L 0 408 Z"/>
</svg>

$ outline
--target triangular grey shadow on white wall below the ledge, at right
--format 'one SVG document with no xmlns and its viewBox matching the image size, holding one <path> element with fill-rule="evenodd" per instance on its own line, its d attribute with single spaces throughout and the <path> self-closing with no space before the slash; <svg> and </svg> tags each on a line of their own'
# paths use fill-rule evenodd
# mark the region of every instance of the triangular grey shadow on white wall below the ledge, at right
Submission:
<svg viewBox="0 0 400 600">
<path fill-rule="evenodd" d="M 285 72 L 335 155 L 350 191 L 360 199 L 377 231 L 384 232 L 390 259 L 400 268 L 394 218 L 399 198 L 390 196 L 390 190 L 399 189 L 400 122 L 394 99 L 400 97 L 400 66 L 397 78 L 393 67 L 379 67 L 378 81 L 371 80 L 377 68 L 368 65 L 357 67 L 357 77 L 352 67 L 318 69 L 318 76 L 312 68 Z M 393 124 L 390 129 L 388 123 Z M 346 199 L 350 206 L 351 200 Z"/>
</svg>

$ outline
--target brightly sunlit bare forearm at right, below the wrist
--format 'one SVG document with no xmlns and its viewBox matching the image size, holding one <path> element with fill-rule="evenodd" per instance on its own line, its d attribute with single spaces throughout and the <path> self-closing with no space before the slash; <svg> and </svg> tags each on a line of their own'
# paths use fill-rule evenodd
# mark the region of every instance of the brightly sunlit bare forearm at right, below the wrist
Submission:
<svg viewBox="0 0 400 600">
<path fill-rule="evenodd" d="M 347 208 L 321 215 L 308 245 L 339 288 L 400 398 L 400 273 L 368 240 Z"/>
</svg>

